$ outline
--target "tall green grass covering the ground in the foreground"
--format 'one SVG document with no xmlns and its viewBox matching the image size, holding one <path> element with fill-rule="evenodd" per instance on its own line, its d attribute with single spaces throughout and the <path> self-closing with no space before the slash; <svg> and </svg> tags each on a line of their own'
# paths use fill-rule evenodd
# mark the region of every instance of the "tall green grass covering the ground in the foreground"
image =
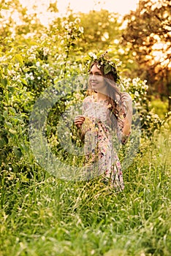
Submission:
<svg viewBox="0 0 171 256">
<path fill-rule="evenodd" d="M 123 192 L 99 178 L 58 180 L 36 164 L 29 178 L 4 170 L 0 255 L 171 255 L 169 137 L 163 129 L 142 140 Z"/>
</svg>

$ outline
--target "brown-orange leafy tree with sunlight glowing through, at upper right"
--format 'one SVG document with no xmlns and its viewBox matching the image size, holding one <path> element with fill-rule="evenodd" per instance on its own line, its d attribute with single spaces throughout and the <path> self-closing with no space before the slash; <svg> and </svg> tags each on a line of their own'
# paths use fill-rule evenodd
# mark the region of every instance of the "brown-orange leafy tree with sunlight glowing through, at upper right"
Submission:
<svg viewBox="0 0 171 256">
<path fill-rule="evenodd" d="M 171 18 L 169 0 L 140 0 L 136 11 L 124 17 L 123 44 L 133 50 L 137 75 L 153 85 L 153 91 L 169 99 L 171 109 Z"/>
</svg>

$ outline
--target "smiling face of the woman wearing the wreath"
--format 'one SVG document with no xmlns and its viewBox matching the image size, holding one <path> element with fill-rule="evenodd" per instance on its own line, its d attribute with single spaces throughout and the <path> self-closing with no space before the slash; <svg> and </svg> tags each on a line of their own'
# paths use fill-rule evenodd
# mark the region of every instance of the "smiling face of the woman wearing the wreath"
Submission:
<svg viewBox="0 0 171 256">
<path fill-rule="evenodd" d="M 106 91 L 104 77 L 102 75 L 101 70 L 98 69 L 98 67 L 96 67 L 96 64 L 94 64 L 94 66 L 91 67 L 89 83 L 91 85 L 92 90 L 94 91 L 99 91 L 101 93 L 104 93 Z"/>
</svg>

